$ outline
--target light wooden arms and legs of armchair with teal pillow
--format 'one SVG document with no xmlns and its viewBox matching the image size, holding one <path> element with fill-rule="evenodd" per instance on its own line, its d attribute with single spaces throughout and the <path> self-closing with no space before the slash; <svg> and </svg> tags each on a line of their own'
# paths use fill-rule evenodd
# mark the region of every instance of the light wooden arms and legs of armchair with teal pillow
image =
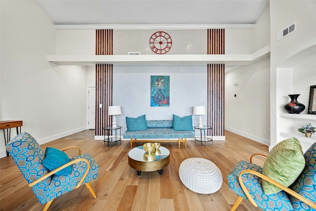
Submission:
<svg viewBox="0 0 316 211">
<path fill-rule="evenodd" d="M 65 148 L 65 149 L 62 149 L 61 151 L 66 151 L 66 150 L 72 149 L 72 148 L 77 148 L 77 149 L 79 150 L 79 154 L 78 154 L 78 155 L 81 155 L 81 150 L 80 150 L 80 148 L 77 147 L 77 146 L 67 147 L 67 148 Z M 88 174 L 88 172 L 89 172 L 89 170 L 90 170 L 90 163 L 89 163 L 86 159 L 84 159 L 84 158 L 78 158 L 78 159 L 75 159 L 75 160 L 73 160 L 73 161 L 70 161 L 69 163 L 67 163 L 67 164 L 65 164 L 65 165 L 63 165 L 63 166 L 58 167 L 57 169 L 54 169 L 54 170 L 50 171 L 49 173 L 46 173 L 46 174 L 42 175 L 40 178 L 38 178 L 38 179 L 34 180 L 33 182 L 31 182 L 31 183 L 29 184 L 29 187 L 32 187 L 32 186 L 38 184 L 39 182 L 41 182 L 41 181 L 43 181 L 44 179 L 46 179 L 47 177 L 53 175 L 53 174 L 56 173 L 57 171 L 60 171 L 61 169 L 65 169 L 66 167 L 71 166 L 71 165 L 73 165 L 73 164 L 75 164 L 75 163 L 78 163 L 78 162 L 81 162 L 81 161 L 87 163 L 87 169 L 85 170 L 85 172 L 84 172 L 82 178 L 80 179 L 79 183 L 77 184 L 77 186 L 76 186 L 76 188 L 75 188 L 75 189 L 77 189 L 77 188 L 80 187 L 80 185 L 82 184 L 83 180 L 85 179 L 85 177 L 87 176 L 87 174 Z M 88 190 L 89 190 L 90 193 L 92 194 L 93 198 L 96 199 L 97 196 L 95 195 L 95 193 L 94 193 L 94 191 L 93 191 L 93 189 L 92 189 L 90 183 L 89 183 L 89 182 L 85 183 L 85 186 L 88 188 Z M 43 208 L 43 211 L 47 211 L 52 202 L 53 202 L 53 199 L 50 200 L 49 202 L 47 202 L 46 205 L 45 205 L 45 207 Z"/>
</svg>

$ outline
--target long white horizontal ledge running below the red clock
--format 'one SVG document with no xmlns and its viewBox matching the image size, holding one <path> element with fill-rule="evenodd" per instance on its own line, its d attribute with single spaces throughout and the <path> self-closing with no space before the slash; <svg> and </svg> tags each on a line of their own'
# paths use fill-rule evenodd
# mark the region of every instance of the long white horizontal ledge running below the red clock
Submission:
<svg viewBox="0 0 316 211">
<path fill-rule="evenodd" d="M 270 45 L 252 54 L 48 55 L 57 65 L 95 64 L 226 64 L 249 65 L 270 56 Z"/>
</svg>

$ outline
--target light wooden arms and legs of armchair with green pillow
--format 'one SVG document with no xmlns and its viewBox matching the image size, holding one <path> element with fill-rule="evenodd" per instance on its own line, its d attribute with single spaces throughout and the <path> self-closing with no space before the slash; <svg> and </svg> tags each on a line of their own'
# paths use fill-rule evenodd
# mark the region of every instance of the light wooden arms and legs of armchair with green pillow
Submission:
<svg viewBox="0 0 316 211">
<path fill-rule="evenodd" d="M 255 155 L 262 155 L 262 156 L 265 156 L 267 157 L 267 155 L 265 154 L 261 154 L 261 153 L 255 153 L 253 154 L 251 157 L 250 157 L 250 162 L 252 163 L 252 158 L 253 156 Z M 316 204 L 314 202 L 312 202 L 311 200 L 309 199 L 306 199 L 304 196 L 296 193 L 295 191 L 289 189 L 288 187 L 280 184 L 279 182 L 277 182 L 276 180 L 266 176 L 266 175 L 263 175 L 262 173 L 259 173 L 257 171 L 254 171 L 254 170 L 250 170 L 250 169 L 246 169 L 246 170 L 243 170 L 239 173 L 239 176 L 238 176 L 238 181 L 239 181 L 239 184 L 241 186 L 241 189 L 243 190 L 243 192 L 245 193 L 246 197 L 248 198 L 249 202 L 254 206 L 254 207 L 258 207 L 257 203 L 254 201 L 254 199 L 250 196 L 250 193 L 248 191 L 248 189 L 246 188 L 246 186 L 244 185 L 243 181 L 242 181 L 242 178 L 241 178 L 241 175 L 244 174 L 244 173 L 250 173 L 250 174 L 253 174 L 253 175 L 256 175 L 258 177 L 260 177 L 261 179 L 264 179 L 268 182 L 270 182 L 271 184 L 275 185 L 276 187 L 282 189 L 283 191 L 285 191 L 286 193 L 290 194 L 291 196 L 297 198 L 298 200 L 304 202 L 305 204 L 307 204 L 308 206 L 310 206 L 311 208 L 314 208 L 316 209 Z M 239 196 L 235 202 L 235 204 L 233 205 L 231 211 L 235 211 L 237 209 L 237 207 L 239 206 L 239 204 L 241 203 L 241 201 L 243 200 L 243 198 L 241 196 Z"/>
</svg>

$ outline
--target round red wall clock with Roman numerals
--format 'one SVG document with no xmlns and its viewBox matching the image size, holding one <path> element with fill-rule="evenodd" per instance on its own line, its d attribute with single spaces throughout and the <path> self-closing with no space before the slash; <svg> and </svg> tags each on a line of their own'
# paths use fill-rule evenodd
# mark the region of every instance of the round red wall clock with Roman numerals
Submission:
<svg viewBox="0 0 316 211">
<path fill-rule="evenodd" d="M 168 52 L 171 45 L 171 37 L 165 32 L 155 32 L 149 39 L 150 48 L 157 54 L 164 54 Z"/>
</svg>

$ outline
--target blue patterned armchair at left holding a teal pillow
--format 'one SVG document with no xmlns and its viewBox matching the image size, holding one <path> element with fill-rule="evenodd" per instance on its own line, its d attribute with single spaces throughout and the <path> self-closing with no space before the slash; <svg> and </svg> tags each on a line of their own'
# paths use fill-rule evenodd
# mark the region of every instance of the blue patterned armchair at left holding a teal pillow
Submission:
<svg viewBox="0 0 316 211">
<path fill-rule="evenodd" d="M 98 176 L 98 164 L 88 154 L 81 154 L 70 158 L 70 162 L 57 169 L 49 171 L 44 165 L 45 153 L 35 138 L 27 132 L 15 136 L 6 146 L 6 150 L 20 169 L 29 187 L 36 195 L 40 204 L 46 203 L 43 211 L 48 210 L 53 200 L 73 189 L 77 189 L 82 183 L 86 185 L 93 198 L 97 198 L 89 181 Z M 67 155 L 66 155 L 67 156 Z M 57 175 L 58 172 L 71 168 L 69 175 Z"/>
</svg>

